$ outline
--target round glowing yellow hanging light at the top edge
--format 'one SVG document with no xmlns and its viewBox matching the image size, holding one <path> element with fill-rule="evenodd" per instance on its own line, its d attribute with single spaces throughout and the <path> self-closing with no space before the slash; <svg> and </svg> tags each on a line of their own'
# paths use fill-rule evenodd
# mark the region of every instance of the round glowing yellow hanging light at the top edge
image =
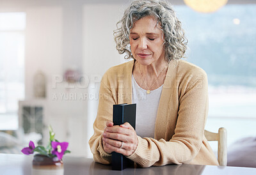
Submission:
<svg viewBox="0 0 256 175">
<path fill-rule="evenodd" d="M 227 4 L 228 0 L 184 0 L 190 8 L 203 13 L 211 13 Z"/>
</svg>

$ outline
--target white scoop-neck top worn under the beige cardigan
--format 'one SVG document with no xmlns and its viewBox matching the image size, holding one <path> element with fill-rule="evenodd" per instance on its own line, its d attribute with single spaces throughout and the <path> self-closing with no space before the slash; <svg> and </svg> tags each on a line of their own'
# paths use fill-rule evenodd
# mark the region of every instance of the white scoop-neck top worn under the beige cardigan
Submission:
<svg viewBox="0 0 256 175">
<path fill-rule="evenodd" d="M 163 85 L 147 94 L 132 75 L 132 103 L 136 103 L 136 133 L 140 137 L 154 138 L 157 109 Z"/>
</svg>

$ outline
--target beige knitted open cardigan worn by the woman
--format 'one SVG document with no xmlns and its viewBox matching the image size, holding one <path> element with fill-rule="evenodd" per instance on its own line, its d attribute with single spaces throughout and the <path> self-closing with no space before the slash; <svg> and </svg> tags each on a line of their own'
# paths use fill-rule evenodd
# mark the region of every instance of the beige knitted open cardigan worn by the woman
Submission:
<svg viewBox="0 0 256 175">
<path fill-rule="evenodd" d="M 94 134 L 89 144 L 96 162 L 111 163 L 102 147 L 106 121 L 112 120 L 113 104 L 132 103 L 134 61 L 110 68 L 102 77 Z M 207 75 L 186 61 L 170 61 L 157 110 L 155 137 L 141 138 L 129 159 L 150 167 L 166 164 L 218 165 L 204 137 L 208 113 Z M 147 123 L 145 123 L 147 125 Z"/>
</svg>

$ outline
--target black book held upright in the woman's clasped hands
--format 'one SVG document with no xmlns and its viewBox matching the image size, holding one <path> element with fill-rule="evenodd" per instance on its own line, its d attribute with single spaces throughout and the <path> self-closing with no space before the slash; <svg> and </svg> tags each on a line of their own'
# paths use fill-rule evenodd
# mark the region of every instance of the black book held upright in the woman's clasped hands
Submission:
<svg viewBox="0 0 256 175">
<path fill-rule="evenodd" d="M 120 105 L 113 105 L 113 123 L 114 125 L 122 125 L 125 122 L 130 123 L 130 125 L 135 130 L 136 122 L 136 104 L 128 105 L 126 103 Z M 113 170 L 123 170 L 127 167 L 133 167 L 134 162 L 129 158 L 126 158 L 120 153 L 112 153 L 112 169 Z"/>
</svg>

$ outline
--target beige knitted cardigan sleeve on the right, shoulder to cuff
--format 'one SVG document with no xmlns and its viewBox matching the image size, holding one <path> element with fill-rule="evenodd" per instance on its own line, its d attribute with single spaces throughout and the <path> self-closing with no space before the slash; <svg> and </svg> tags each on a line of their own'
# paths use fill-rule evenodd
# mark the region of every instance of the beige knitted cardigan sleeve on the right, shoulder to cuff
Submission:
<svg viewBox="0 0 256 175">
<path fill-rule="evenodd" d="M 207 75 L 201 70 L 197 73 L 200 74 L 177 80 L 179 110 L 172 139 L 165 141 L 138 137 L 138 146 L 128 156 L 129 159 L 142 167 L 150 167 L 189 164 L 195 158 L 202 146 L 205 116 L 208 112 Z"/>
</svg>

